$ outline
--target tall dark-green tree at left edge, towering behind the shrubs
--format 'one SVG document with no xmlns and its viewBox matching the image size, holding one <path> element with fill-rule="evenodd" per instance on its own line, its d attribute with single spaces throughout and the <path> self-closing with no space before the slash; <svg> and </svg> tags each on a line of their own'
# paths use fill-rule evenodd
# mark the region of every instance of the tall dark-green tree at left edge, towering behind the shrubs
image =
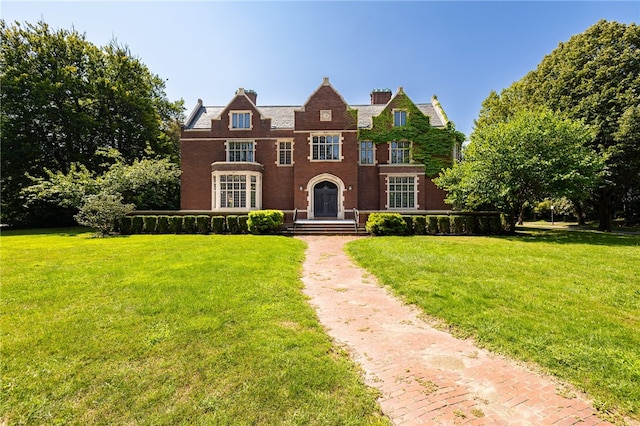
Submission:
<svg viewBox="0 0 640 426">
<path fill-rule="evenodd" d="M 27 174 L 68 173 L 72 164 L 103 171 L 109 164 L 95 155 L 101 148 L 117 149 L 127 162 L 177 161 L 182 101 L 170 102 L 164 80 L 127 47 L 100 48 L 44 22 L 0 21 L 0 30 L 2 222 L 43 224 L 49 207 L 23 205 Z"/>
</svg>

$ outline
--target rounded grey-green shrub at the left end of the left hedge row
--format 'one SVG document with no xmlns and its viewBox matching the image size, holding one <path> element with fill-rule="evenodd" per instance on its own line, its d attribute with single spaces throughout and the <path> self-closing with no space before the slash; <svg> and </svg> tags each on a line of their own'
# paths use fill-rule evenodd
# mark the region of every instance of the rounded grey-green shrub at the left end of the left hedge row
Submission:
<svg viewBox="0 0 640 426">
<path fill-rule="evenodd" d="M 84 198 L 74 219 L 84 226 L 97 228 L 101 236 L 115 231 L 118 220 L 133 210 L 133 204 L 123 204 L 122 195 L 99 193 Z"/>
</svg>

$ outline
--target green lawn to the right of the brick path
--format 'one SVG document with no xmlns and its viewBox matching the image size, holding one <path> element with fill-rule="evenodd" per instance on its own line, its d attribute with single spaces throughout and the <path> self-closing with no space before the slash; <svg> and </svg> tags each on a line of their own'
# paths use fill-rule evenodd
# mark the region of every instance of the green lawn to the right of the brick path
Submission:
<svg viewBox="0 0 640 426">
<path fill-rule="evenodd" d="M 640 417 L 640 236 L 377 237 L 347 250 L 456 332 Z"/>
</svg>

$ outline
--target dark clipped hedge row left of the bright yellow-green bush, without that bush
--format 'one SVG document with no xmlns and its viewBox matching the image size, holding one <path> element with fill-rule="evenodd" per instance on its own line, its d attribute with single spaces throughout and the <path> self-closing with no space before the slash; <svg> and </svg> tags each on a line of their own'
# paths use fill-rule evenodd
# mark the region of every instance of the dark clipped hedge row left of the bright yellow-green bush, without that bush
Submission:
<svg viewBox="0 0 640 426">
<path fill-rule="evenodd" d="M 118 222 L 122 235 L 131 234 L 248 234 L 249 216 L 125 216 Z"/>
</svg>

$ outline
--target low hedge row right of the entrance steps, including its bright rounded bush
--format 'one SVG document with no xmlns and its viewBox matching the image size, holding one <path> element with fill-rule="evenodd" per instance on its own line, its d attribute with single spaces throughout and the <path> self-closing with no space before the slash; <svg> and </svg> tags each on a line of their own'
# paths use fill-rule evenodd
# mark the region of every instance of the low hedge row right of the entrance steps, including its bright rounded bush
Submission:
<svg viewBox="0 0 640 426">
<path fill-rule="evenodd" d="M 498 214 L 402 215 L 371 213 L 366 230 L 373 235 L 495 235 L 504 232 Z"/>
</svg>

